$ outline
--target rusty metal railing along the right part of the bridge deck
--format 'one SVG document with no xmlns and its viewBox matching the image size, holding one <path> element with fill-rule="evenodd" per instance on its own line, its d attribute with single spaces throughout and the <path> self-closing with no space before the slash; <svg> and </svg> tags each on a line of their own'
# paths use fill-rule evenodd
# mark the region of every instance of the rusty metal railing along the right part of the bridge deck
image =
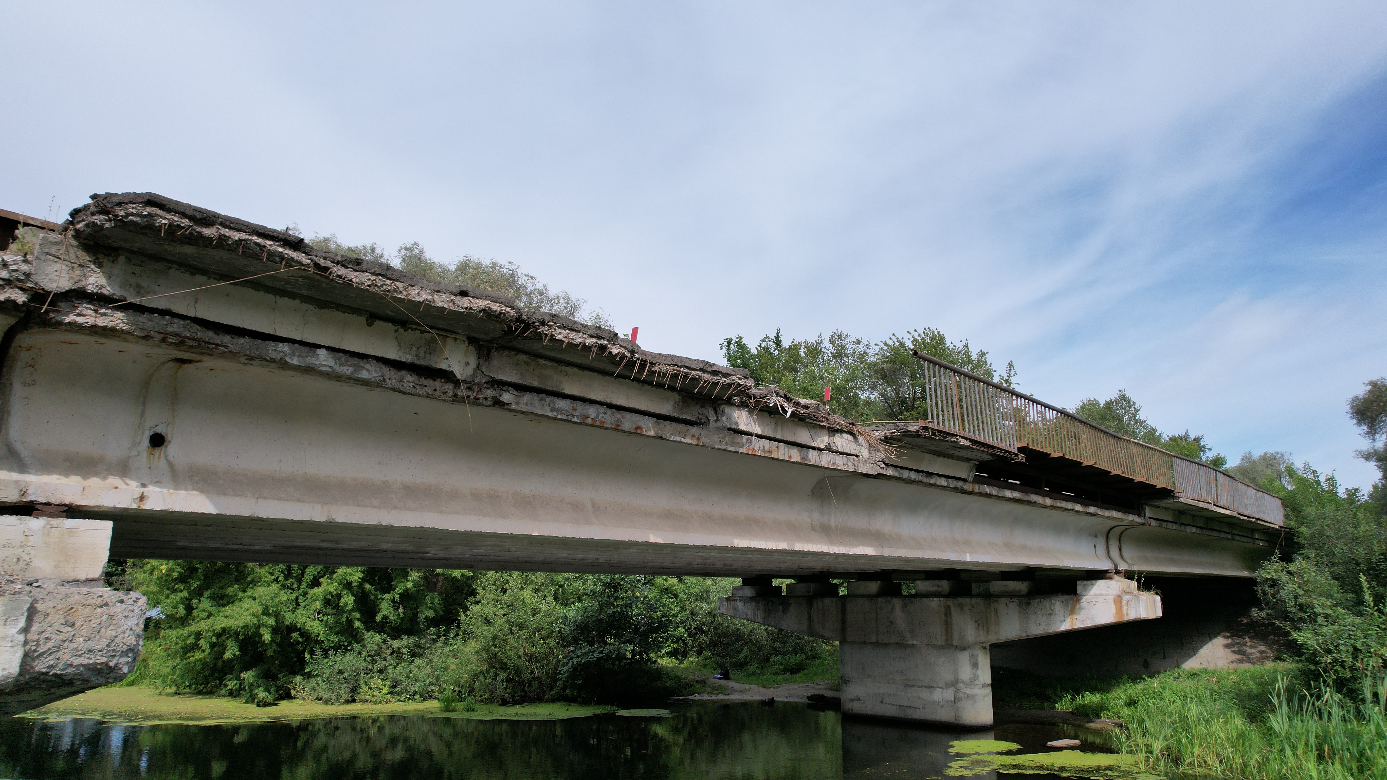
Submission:
<svg viewBox="0 0 1387 780">
<path fill-rule="evenodd" d="M 1283 522 L 1280 498 L 1214 466 L 1119 436 L 988 378 L 911 350 L 924 361 L 927 425 L 1003 447 L 1040 450 L 1234 512 Z"/>
</svg>

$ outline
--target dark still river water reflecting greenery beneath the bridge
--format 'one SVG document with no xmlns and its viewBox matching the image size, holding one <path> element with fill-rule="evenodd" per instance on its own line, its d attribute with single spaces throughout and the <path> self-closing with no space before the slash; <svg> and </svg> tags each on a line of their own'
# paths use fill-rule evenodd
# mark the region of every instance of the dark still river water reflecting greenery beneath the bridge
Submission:
<svg viewBox="0 0 1387 780">
<path fill-rule="evenodd" d="M 569 720 L 374 716 L 234 726 L 0 722 L 6 779 L 800 780 L 939 779 L 954 740 L 1021 752 L 1087 736 L 1047 726 L 946 731 L 843 719 L 803 704 L 674 705 L 666 718 Z M 1092 734 L 1092 733 L 1090 733 Z M 982 780 L 1040 774 L 986 773 Z"/>
</svg>

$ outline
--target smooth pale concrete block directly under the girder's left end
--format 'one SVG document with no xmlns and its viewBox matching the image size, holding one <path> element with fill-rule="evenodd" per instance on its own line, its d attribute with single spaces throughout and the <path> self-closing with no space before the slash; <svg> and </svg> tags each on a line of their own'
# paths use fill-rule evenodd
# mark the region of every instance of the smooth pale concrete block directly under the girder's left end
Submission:
<svg viewBox="0 0 1387 780">
<path fill-rule="evenodd" d="M 110 520 L 0 515 L 0 575 L 100 582 L 110 550 Z"/>
</svg>

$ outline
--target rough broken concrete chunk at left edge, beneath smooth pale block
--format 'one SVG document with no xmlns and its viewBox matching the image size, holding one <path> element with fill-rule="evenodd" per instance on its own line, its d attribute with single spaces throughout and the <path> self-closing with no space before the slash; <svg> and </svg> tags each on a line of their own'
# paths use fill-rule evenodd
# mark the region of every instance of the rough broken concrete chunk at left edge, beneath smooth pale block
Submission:
<svg viewBox="0 0 1387 780">
<path fill-rule="evenodd" d="M 122 680 L 144 641 L 137 593 L 0 577 L 0 716 Z"/>
</svg>

